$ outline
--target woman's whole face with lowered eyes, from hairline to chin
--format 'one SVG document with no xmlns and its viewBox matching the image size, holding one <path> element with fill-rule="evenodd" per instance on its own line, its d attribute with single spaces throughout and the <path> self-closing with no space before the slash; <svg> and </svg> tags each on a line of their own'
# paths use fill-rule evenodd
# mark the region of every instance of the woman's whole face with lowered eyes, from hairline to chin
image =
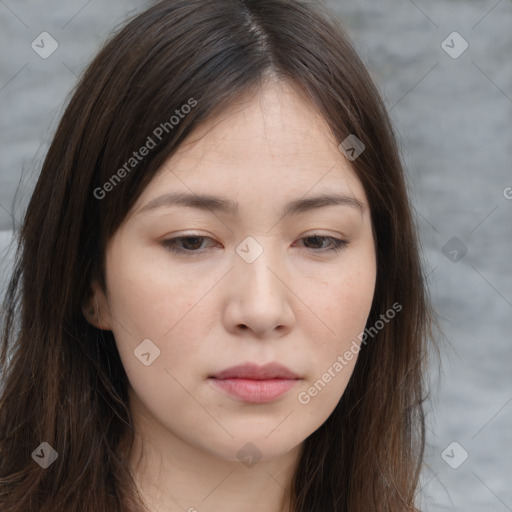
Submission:
<svg viewBox="0 0 512 512">
<path fill-rule="evenodd" d="M 343 395 L 375 277 L 363 187 L 292 87 L 207 122 L 111 239 L 96 289 L 139 433 L 249 464 L 298 447 Z"/>
</svg>

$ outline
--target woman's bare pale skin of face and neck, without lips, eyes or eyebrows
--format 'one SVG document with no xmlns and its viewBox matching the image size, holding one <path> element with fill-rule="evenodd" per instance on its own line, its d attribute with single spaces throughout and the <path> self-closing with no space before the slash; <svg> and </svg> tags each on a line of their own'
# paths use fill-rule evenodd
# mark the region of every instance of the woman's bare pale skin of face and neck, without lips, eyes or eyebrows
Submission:
<svg viewBox="0 0 512 512">
<path fill-rule="evenodd" d="M 140 211 L 168 192 L 222 196 L 239 211 Z M 362 208 L 282 216 L 289 201 L 324 192 Z M 329 239 L 307 238 L 315 233 L 348 245 L 327 251 Z M 161 244 L 185 235 L 209 238 L 178 243 L 182 254 Z M 251 263 L 236 252 L 249 236 L 263 249 Z M 113 331 L 128 375 L 137 433 L 130 460 L 149 510 L 288 510 L 303 441 L 335 408 L 357 356 L 309 403 L 298 395 L 363 331 L 375 277 L 362 184 L 290 84 L 265 82 L 184 141 L 110 240 L 106 290 L 93 283 L 99 315 L 89 317 Z M 160 350 L 148 366 L 134 355 L 144 339 Z M 246 362 L 279 362 L 301 380 L 267 404 L 243 403 L 207 380 Z M 261 454 L 250 467 L 237 457 L 247 442 Z"/>
</svg>

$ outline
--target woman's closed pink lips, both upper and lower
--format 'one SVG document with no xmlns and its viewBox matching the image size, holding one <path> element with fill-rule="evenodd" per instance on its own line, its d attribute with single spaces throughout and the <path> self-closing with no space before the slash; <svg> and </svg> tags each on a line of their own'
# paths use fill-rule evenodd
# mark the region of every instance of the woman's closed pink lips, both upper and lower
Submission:
<svg viewBox="0 0 512 512">
<path fill-rule="evenodd" d="M 286 366 L 244 364 L 227 368 L 208 379 L 215 387 L 243 402 L 267 403 L 292 389 L 300 379 Z"/>
</svg>

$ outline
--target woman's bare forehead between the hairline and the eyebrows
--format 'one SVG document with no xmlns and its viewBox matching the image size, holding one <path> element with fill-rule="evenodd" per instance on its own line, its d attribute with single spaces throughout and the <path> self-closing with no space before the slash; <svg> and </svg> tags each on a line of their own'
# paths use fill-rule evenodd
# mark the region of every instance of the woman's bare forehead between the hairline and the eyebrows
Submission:
<svg viewBox="0 0 512 512">
<path fill-rule="evenodd" d="M 190 133 L 136 207 L 173 191 L 276 203 L 329 190 L 365 203 L 325 119 L 293 86 L 271 82 Z"/>
</svg>

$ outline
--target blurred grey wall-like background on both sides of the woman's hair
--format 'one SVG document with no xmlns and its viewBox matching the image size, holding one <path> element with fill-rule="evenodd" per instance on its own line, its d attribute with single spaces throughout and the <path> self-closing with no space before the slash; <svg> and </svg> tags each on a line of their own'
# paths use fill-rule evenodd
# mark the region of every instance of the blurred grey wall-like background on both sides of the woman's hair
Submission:
<svg viewBox="0 0 512 512">
<path fill-rule="evenodd" d="M 2 292 L 11 232 L 77 77 L 149 4 L 0 0 Z M 447 338 L 441 372 L 432 365 L 421 505 L 512 511 L 512 2 L 327 5 L 390 111 Z"/>
</svg>

